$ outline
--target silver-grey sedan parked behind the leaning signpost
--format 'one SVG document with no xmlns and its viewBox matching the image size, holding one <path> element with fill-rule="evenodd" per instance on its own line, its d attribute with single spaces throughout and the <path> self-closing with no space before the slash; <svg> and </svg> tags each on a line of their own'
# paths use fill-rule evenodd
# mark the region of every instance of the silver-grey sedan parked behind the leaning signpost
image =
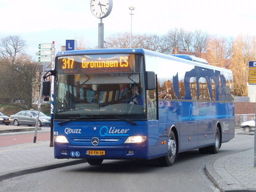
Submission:
<svg viewBox="0 0 256 192">
<path fill-rule="evenodd" d="M 20 111 L 15 115 L 10 115 L 10 123 L 13 123 L 15 126 L 19 125 L 36 125 L 37 112 L 34 110 Z M 44 113 L 39 113 L 38 127 L 50 126 L 51 117 L 45 115 Z"/>
</svg>

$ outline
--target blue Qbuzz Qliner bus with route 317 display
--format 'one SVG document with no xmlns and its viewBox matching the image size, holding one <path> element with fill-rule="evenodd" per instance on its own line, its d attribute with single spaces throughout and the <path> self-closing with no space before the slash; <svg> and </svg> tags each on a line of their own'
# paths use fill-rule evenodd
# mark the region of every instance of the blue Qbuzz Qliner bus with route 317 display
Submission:
<svg viewBox="0 0 256 192">
<path fill-rule="evenodd" d="M 171 166 L 181 152 L 215 154 L 235 136 L 232 72 L 201 58 L 145 49 L 61 51 L 44 78 L 50 75 L 58 159 L 159 159 Z"/>
</svg>

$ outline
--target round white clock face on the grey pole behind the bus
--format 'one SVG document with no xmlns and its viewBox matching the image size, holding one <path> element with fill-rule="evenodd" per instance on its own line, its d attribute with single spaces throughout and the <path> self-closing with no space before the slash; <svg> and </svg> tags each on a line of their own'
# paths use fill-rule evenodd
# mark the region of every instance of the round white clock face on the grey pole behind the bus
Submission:
<svg viewBox="0 0 256 192">
<path fill-rule="evenodd" d="M 91 12 L 97 18 L 104 18 L 112 10 L 112 0 L 91 0 Z"/>
</svg>

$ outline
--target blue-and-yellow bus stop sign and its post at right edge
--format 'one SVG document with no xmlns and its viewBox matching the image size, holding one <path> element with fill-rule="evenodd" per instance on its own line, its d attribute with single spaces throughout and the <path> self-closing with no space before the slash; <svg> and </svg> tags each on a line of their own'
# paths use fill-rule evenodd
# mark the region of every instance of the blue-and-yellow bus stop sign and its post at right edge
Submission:
<svg viewBox="0 0 256 192">
<path fill-rule="evenodd" d="M 248 83 L 249 85 L 256 85 L 256 61 L 248 62 Z M 255 116 L 256 116 L 256 105 L 255 105 Z M 255 128 L 256 128 L 256 121 L 255 121 Z M 256 167 L 256 134 L 254 134 L 254 167 Z"/>
</svg>

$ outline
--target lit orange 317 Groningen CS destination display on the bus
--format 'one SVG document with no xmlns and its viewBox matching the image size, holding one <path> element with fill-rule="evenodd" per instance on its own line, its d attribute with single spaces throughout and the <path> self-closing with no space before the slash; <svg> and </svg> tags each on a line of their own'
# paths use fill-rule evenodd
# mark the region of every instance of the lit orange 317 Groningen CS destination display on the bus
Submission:
<svg viewBox="0 0 256 192">
<path fill-rule="evenodd" d="M 63 72 L 93 69 L 131 69 L 133 68 L 133 54 L 118 55 L 71 55 L 59 57 L 58 69 Z"/>
</svg>

